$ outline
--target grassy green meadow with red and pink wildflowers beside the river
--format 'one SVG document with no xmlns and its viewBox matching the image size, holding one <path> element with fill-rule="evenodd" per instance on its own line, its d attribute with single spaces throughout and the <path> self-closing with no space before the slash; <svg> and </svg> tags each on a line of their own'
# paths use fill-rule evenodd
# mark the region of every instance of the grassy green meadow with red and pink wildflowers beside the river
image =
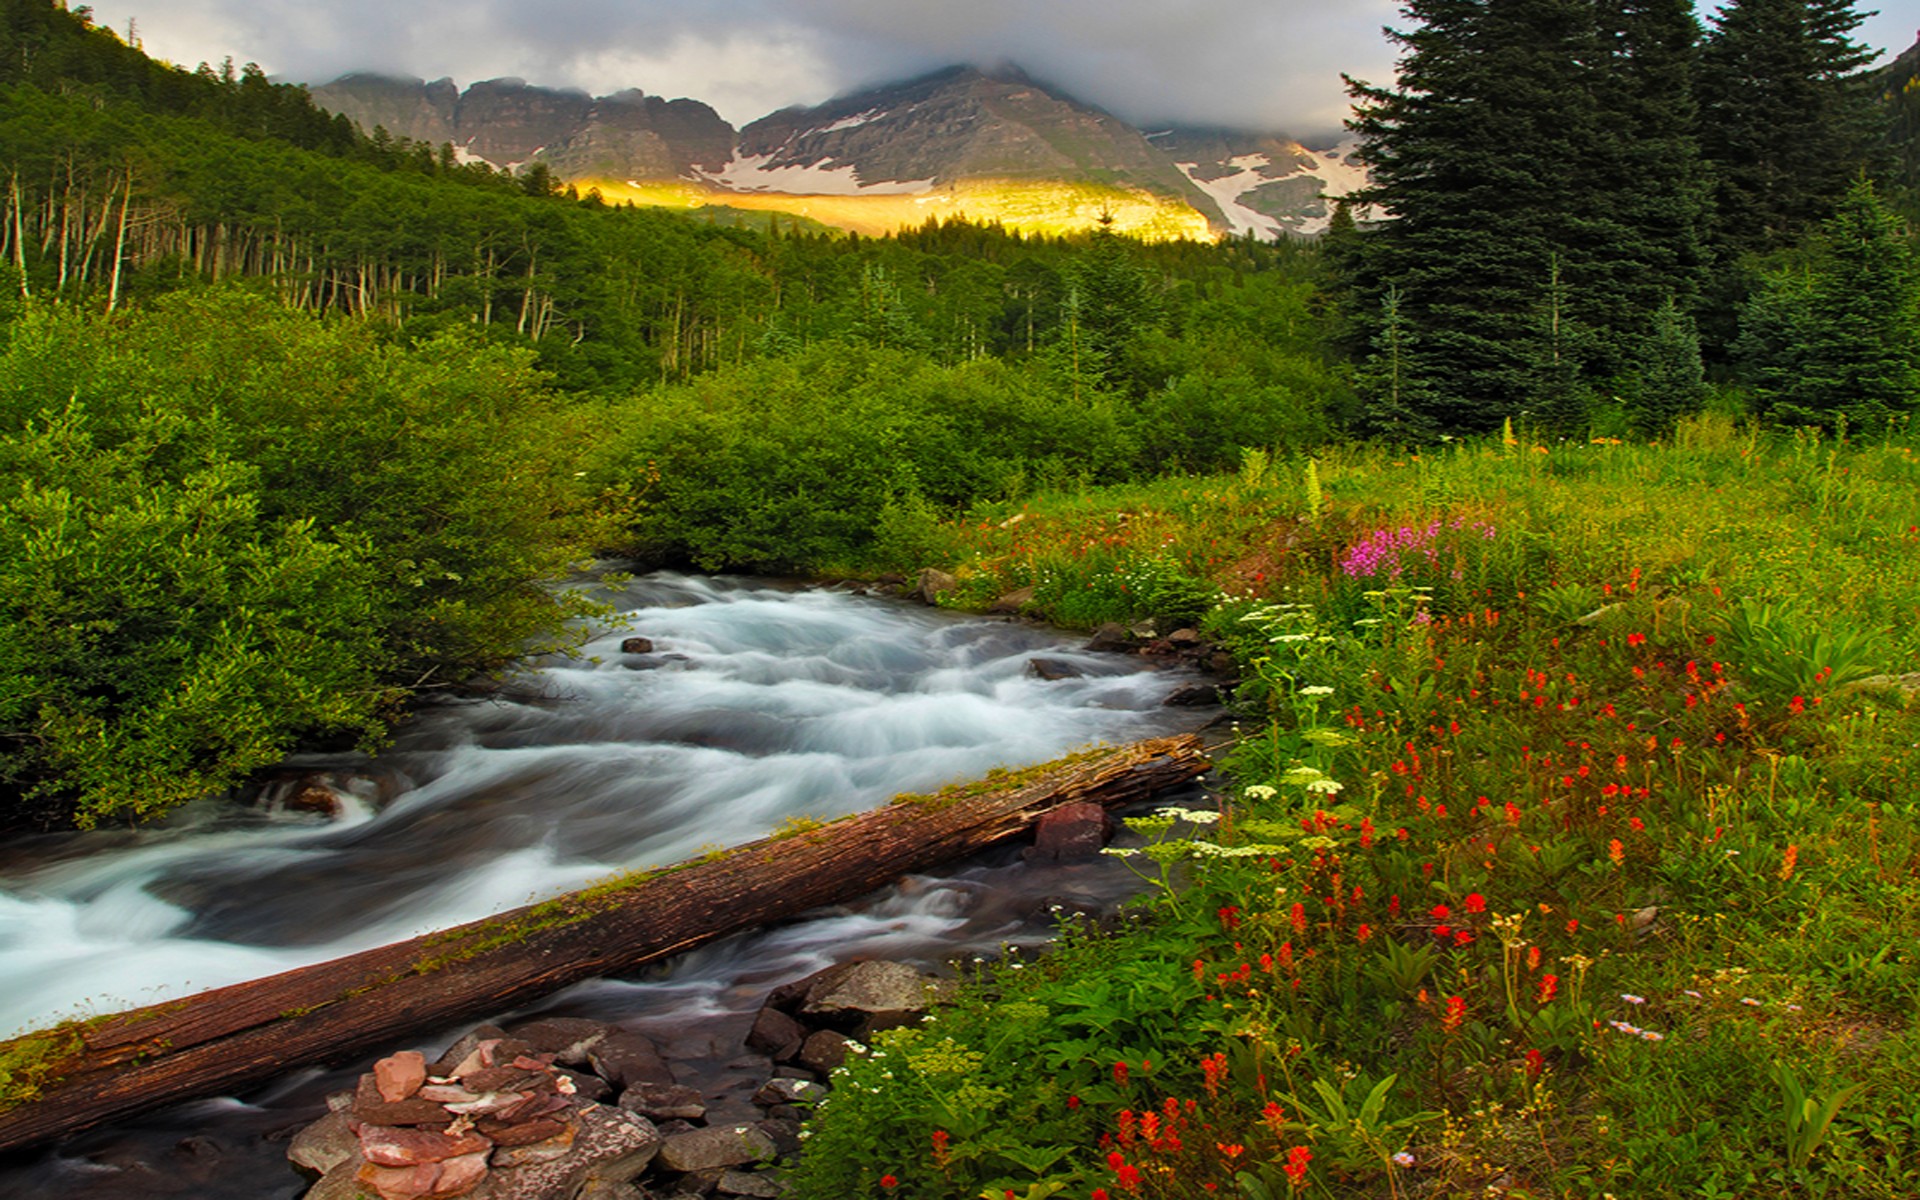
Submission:
<svg viewBox="0 0 1920 1200">
<path fill-rule="evenodd" d="M 1133 920 L 845 1068 L 801 1196 L 1920 1192 L 1908 438 L 1256 453 L 900 543 L 1200 622 L 1240 724 Z"/>
</svg>

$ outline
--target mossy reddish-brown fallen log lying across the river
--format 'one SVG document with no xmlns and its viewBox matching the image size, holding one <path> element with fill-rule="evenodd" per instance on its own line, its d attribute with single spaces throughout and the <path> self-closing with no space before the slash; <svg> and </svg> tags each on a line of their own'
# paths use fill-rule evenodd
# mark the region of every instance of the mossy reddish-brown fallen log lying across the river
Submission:
<svg viewBox="0 0 1920 1200">
<path fill-rule="evenodd" d="M 1123 806 L 1208 762 L 1198 737 L 1089 751 L 332 962 L 0 1043 L 0 1150 L 349 1060 L 584 979 L 839 904 L 1075 801 Z"/>
</svg>

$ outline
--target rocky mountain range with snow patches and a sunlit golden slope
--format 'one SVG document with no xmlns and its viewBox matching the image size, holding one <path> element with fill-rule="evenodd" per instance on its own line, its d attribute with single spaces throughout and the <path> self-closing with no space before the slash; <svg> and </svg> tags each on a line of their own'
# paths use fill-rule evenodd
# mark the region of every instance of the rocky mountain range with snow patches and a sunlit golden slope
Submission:
<svg viewBox="0 0 1920 1200">
<path fill-rule="evenodd" d="M 1311 234 L 1323 192 L 1361 182 L 1344 148 L 1227 131 L 1144 134 L 1018 67 L 948 67 L 787 108 L 733 131 L 697 100 L 593 98 L 493 79 L 459 92 L 348 75 L 317 104 L 363 129 L 451 144 L 463 161 L 534 161 L 607 200 L 781 211 L 858 232 L 933 217 L 1071 232 L 1112 217 L 1148 238 Z"/>
</svg>

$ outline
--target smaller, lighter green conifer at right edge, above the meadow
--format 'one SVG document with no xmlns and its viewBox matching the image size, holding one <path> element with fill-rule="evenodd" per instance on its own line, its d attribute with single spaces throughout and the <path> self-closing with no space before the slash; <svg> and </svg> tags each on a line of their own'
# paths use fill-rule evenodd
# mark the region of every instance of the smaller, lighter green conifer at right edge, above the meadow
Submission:
<svg viewBox="0 0 1920 1200">
<path fill-rule="evenodd" d="M 1736 351 L 1782 420 L 1870 430 L 1920 405 L 1920 263 L 1870 182 L 1749 301 Z"/>
</svg>

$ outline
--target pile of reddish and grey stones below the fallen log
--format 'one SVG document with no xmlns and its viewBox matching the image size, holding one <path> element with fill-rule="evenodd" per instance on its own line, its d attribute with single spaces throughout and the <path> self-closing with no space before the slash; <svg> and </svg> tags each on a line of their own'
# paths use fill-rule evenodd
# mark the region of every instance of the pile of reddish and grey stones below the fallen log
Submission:
<svg viewBox="0 0 1920 1200">
<path fill-rule="evenodd" d="M 319 1175 L 307 1200 L 781 1196 L 778 1165 L 847 1043 L 918 1021 L 935 989 L 914 968 L 854 962 L 774 991 L 728 1064 L 751 1073 L 751 1104 L 678 1083 L 651 1039 L 616 1025 L 482 1025 L 432 1064 L 376 1062 L 288 1158 Z"/>
</svg>

